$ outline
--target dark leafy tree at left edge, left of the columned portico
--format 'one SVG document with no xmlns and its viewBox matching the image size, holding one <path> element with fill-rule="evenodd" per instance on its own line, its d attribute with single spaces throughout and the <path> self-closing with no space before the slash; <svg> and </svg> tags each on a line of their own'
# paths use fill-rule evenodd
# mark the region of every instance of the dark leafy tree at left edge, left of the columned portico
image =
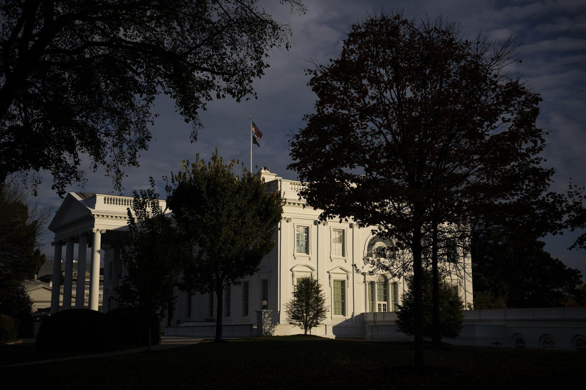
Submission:
<svg viewBox="0 0 586 390">
<path fill-rule="evenodd" d="M 21 186 L 0 183 L 0 313 L 23 322 L 28 322 L 32 301 L 22 282 L 46 261 L 39 241 L 52 213 L 26 198 Z"/>
</svg>

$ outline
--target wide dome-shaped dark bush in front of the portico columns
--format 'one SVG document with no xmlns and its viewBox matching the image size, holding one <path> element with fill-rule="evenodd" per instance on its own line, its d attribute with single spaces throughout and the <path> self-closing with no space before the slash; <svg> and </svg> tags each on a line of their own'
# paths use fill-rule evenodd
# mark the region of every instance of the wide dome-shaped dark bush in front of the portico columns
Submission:
<svg viewBox="0 0 586 390">
<path fill-rule="evenodd" d="M 47 317 L 36 337 L 39 351 L 101 352 L 118 344 L 115 323 L 104 313 L 89 309 L 63 310 Z"/>
</svg>

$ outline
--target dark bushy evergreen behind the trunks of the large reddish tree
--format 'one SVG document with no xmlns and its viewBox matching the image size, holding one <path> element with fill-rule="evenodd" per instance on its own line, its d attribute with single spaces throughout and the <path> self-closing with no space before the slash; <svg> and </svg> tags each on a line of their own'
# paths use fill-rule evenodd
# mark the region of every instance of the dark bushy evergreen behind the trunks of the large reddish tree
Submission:
<svg viewBox="0 0 586 390">
<path fill-rule="evenodd" d="M 407 291 L 401 297 L 402 305 L 397 305 L 397 328 L 413 335 L 415 332 L 415 299 L 413 277 L 407 277 Z M 431 272 L 423 272 L 423 334 L 432 336 L 432 277 Z M 440 334 L 442 337 L 458 337 L 464 321 L 464 302 L 445 281 L 440 281 Z"/>
</svg>

